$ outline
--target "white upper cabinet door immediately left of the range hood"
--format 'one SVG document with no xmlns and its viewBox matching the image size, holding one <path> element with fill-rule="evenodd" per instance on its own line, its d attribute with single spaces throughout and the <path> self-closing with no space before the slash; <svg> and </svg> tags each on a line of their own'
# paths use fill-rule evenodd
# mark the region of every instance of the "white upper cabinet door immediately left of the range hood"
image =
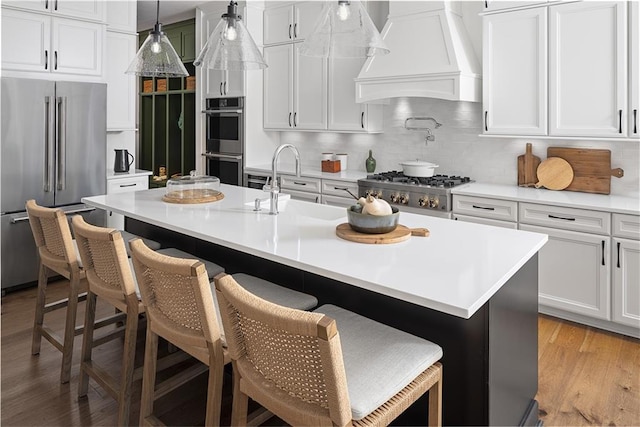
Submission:
<svg viewBox="0 0 640 427">
<path fill-rule="evenodd" d="M 329 60 L 328 127 L 349 132 L 382 132 L 382 105 L 357 104 L 354 78 L 365 58 Z"/>
</svg>

